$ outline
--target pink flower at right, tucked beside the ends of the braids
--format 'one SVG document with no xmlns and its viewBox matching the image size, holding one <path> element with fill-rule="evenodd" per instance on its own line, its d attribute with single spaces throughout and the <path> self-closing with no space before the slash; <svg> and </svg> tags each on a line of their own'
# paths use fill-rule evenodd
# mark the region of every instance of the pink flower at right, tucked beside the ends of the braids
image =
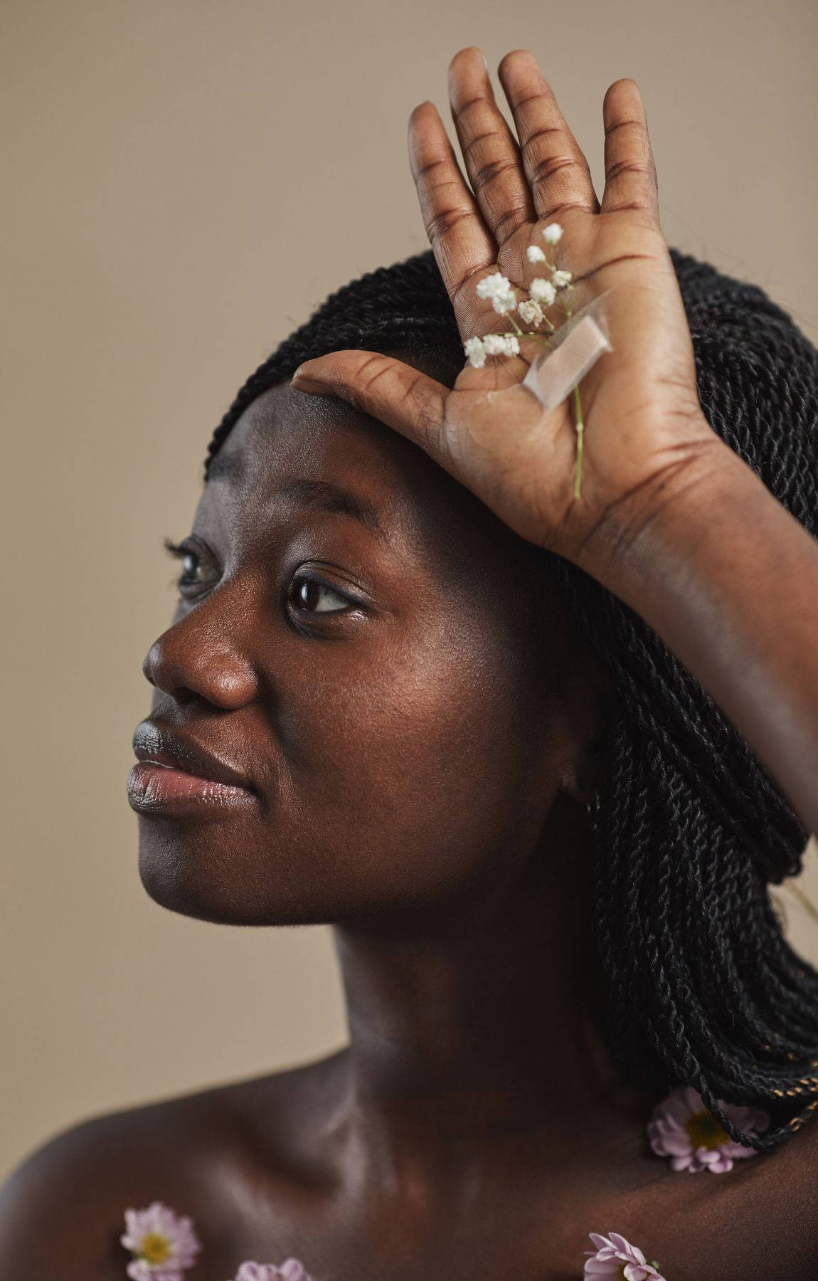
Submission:
<svg viewBox="0 0 818 1281">
<path fill-rule="evenodd" d="M 769 1126 L 769 1117 L 760 1108 L 721 1100 L 719 1107 L 745 1134 L 763 1134 Z M 686 1170 L 691 1175 L 702 1170 L 723 1175 L 732 1170 L 734 1161 L 755 1155 L 755 1148 L 732 1141 L 691 1085 L 673 1090 L 653 1109 L 648 1143 L 657 1157 L 671 1158 L 672 1170 Z"/>
</svg>

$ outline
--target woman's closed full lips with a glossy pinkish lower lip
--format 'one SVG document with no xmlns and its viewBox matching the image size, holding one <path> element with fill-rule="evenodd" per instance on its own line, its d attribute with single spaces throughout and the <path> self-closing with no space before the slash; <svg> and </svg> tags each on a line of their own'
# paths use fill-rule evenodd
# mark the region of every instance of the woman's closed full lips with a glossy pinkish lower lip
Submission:
<svg viewBox="0 0 818 1281">
<path fill-rule="evenodd" d="M 141 813 L 215 816 L 257 801 L 246 774 L 178 729 L 145 720 L 133 751 L 128 801 Z"/>
</svg>

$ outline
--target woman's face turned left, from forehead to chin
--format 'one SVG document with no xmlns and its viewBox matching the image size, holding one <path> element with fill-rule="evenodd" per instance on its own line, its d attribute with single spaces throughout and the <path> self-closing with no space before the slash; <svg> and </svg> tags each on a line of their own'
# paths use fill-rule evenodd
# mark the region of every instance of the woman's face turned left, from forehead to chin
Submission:
<svg viewBox="0 0 818 1281">
<path fill-rule="evenodd" d="M 182 546 L 134 735 L 160 763 L 129 779 L 154 899 L 374 925 L 516 876 L 576 755 L 577 658 L 530 544 L 403 437 L 282 384 Z M 168 769 L 210 775 L 202 753 L 246 787 Z"/>
</svg>

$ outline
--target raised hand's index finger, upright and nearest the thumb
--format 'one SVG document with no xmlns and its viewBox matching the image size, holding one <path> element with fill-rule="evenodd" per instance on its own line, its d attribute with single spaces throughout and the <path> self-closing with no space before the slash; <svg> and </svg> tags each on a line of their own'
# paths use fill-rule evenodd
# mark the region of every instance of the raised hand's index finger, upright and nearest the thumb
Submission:
<svg viewBox="0 0 818 1281">
<path fill-rule="evenodd" d="M 412 111 L 408 142 L 426 234 L 463 333 L 474 300 L 474 277 L 493 265 L 497 246 L 431 102 L 421 102 Z"/>
</svg>

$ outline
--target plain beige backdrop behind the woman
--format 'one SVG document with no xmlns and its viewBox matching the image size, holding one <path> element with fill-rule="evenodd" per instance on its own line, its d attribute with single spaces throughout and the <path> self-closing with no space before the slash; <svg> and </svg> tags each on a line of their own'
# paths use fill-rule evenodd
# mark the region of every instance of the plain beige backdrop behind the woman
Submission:
<svg viewBox="0 0 818 1281">
<path fill-rule="evenodd" d="M 328 931 L 143 895 L 124 779 L 211 427 L 332 288 L 424 247 L 406 119 L 445 109 L 452 54 L 530 46 L 597 179 L 604 91 L 635 77 L 666 238 L 818 341 L 814 0 L 1 10 L 0 1175 L 91 1112 L 344 1039 Z"/>
</svg>

